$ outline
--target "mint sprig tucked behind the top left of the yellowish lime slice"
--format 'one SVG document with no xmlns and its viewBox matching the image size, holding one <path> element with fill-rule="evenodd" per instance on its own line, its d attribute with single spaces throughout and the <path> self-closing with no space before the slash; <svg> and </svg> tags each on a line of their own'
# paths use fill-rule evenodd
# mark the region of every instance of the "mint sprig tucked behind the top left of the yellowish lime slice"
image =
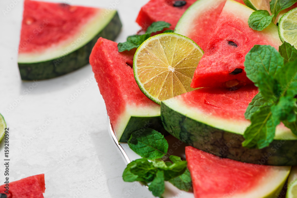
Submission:
<svg viewBox="0 0 297 198">
<path fill-rule="evenodd" d="M 138 48 L 146 39 L 148 39 L 152 33 L 155 33 L 157 31 L 162 31 L 165 28 L 169 28 L 170 23 L 167 23 L 165 21 L 157 21 L 152 23 L 146 30 L 146 34 L 142 35 L 132 35 L 127 38 L 127 41 L 124 43 L 118 44 L 118 50 L 119 52 L 123 51 L 130 51 L 134 48 Z M 164 32 L 170 32 L 165 30 Z"/>
</svg>

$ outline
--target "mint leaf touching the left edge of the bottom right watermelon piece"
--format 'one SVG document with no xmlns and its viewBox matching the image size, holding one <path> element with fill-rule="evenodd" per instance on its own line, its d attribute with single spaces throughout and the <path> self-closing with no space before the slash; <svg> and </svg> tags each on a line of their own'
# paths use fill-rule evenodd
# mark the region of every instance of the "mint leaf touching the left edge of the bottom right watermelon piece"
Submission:
<svg viewBox="0 0 297 198">
<path fill-rule="evenodd" d="M 169 182 L 180 190 L 189 191 L 192 186 L 192 179 L 189 169 L 186 169 L 183 174 L 170 179 Z"/>
</svg>

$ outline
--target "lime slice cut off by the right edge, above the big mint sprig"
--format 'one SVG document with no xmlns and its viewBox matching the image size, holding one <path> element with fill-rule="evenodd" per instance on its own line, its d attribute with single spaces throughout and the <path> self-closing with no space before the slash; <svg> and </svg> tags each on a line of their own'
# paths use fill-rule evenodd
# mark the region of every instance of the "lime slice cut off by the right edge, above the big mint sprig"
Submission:
<svg viewBox="0 0 297 198">
<path fill-rule="evenodd" d="M 280 18 L 278 31 L 282 42 L 297 46 L 297 8 L 291 9 Z"/>
</svg>

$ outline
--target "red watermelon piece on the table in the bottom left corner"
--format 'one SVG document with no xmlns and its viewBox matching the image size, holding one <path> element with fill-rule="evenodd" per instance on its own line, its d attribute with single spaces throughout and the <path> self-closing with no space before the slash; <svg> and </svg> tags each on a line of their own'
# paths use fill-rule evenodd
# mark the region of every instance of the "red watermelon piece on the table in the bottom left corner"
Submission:
<svg viewBox="0 0 297 198">
<path fill-rule="evenodd" d="M 7 185 L 8 194 L 7 189 L 5 189 L 7 188 Z M 0 186 L 0 197 L 1 194 L 4 194 L 7 196 L 7 198 L 43 198 L 42 193 L 44 192 L 44 174 L 34 175 Z"/>
</svg>

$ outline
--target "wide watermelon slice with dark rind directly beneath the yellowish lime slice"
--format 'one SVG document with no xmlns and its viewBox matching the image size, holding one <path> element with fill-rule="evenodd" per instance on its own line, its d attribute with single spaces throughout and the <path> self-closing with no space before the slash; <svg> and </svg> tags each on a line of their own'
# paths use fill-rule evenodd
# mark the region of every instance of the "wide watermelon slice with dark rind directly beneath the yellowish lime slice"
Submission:
<svg viewBox="0 0 297 198">
<path fill-rule="evenodd" d="M 244 113 L 257 93 L 254 85 L 197 89 L 162 101 L 161 119 L 170 134 L 203 151 L 254 164 L 297 165 L 297 136 L 282 124 L 268 147 L 242 147 L 250 125 Z"/>
</svg>

